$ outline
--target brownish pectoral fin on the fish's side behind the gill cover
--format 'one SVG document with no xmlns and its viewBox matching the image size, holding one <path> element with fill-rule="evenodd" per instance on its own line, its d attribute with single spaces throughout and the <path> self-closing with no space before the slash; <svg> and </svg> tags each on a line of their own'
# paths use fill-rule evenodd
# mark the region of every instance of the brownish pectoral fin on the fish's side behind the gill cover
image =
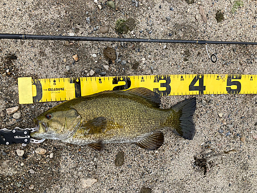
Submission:
<svg viewBox="0 0 257 193">
<path fill-rule="evenodd" d="M 102 133 L 106 129 L 107 120 L 104 117 L 97 117 L 86 122 L 80 129 L 86 130 L 86 134 Z"/>
</svg>

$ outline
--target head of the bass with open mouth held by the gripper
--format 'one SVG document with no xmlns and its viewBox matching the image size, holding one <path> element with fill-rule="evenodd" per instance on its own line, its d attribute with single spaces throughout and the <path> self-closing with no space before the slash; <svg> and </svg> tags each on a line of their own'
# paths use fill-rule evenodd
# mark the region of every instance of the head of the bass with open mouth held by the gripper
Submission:
<svg viewBox="0 0 257 193">
<path fill-rule="evenodd" d="M 45 139 L 65 140 L 80 127 L 82 118 L 76 109 L 54 107 L 33 120 L 38 128 L 30 135 Z"/>
</svg>

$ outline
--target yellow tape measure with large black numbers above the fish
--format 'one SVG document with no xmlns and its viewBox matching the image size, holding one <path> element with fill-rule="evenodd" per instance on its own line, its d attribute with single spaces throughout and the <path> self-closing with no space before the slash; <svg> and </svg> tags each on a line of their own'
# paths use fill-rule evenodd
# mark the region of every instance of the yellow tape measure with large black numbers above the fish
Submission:
<svg viewBox="0 0 257 193">
<path fill-rule="evenodd" d="M 18 78 L 21 104 L 70 100 L 106 90 L 145 87 L 160 96 L 256 94 L 257 75 L 145 75 L 116 77 Z"/>
</svg>

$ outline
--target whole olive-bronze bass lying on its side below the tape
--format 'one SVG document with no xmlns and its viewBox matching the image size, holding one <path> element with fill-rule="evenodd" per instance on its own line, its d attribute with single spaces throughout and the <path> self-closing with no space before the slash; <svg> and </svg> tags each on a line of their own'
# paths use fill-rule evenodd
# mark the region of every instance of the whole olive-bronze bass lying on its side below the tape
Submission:
<svg viewBox="0 0 257 193">
<path fill-rule="evenodd" d="M 134 143 L 156 150 L 164 142 L 163 129 L 192 140 L 196 98 L 170 109 L 160 109 L 160 96 L 143 87 L 126 91 L 103 91 L 74 98 L 42 113 L 33 121 L 32 137 L 57 139 L 103 150 L 108 143 Z"/>
</svg>

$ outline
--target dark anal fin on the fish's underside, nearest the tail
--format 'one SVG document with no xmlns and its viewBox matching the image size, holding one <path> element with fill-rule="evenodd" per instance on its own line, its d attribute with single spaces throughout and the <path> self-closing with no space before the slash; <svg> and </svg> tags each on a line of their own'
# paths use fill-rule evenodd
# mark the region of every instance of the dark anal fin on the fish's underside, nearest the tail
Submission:
<svg viewBox="0 0 257 193">
<path fill-rule="evenodd" d="M 161 147 L 161 145 L 164 142 L 164 135 L 162 132 L 157 131 L 152 133 L 151 135 L 145 137 L 139 142 L 136 142 L 135 144 L 138 145 L 141 148 L 147 149 L 147 150 L 155 150 Z"/>
</svg>

